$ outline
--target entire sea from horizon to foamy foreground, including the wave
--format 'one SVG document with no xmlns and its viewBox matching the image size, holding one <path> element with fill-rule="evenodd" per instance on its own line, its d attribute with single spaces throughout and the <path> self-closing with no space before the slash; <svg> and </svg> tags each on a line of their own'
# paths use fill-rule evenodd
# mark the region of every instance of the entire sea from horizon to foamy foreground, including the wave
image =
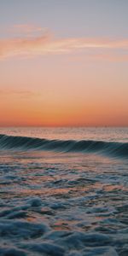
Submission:
<svg viewBox="0 0 128 256">
<path fill-rule="evenodd" d="M 128 255 L 128 128 L 0 128 L 0 255 Z"/>
</svg>

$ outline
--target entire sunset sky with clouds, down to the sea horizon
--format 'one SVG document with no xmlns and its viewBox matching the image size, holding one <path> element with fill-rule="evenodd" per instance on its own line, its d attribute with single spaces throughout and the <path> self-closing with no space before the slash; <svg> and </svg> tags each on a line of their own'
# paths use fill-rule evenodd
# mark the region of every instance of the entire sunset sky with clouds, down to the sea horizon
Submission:
<svg viewBox="0 0 128 256">
<path fill-rule="evenodd" d="M 0 126 L 128 126 L 127 0 L 0 0 Z"/>
</svg>

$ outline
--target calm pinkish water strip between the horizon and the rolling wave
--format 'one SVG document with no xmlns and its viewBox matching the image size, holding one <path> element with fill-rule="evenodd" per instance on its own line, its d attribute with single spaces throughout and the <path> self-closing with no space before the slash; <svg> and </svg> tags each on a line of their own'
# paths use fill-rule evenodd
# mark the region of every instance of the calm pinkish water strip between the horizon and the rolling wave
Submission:
<svg viewBox="0 0 128 256">
<path fill-rule="evenodd" d="M 39 137 L 47 139 L 74 139 L 74 140 L 100 140 L 128 143 L 128 128 L 26 128 L 11 127 L 0 128 L 0 134 L 8 134 L 13 136 Z"/>
</svg>

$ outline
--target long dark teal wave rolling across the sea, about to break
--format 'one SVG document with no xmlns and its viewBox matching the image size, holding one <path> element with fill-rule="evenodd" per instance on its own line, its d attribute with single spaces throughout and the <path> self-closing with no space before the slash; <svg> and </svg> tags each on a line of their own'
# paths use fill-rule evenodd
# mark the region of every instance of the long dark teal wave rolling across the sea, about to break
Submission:
<svg viewBox="0 0 128 256">
<path fill-rule="evenodd" d="M 95 140 L 49 140 L 36 137 L 15 137 L 0 134 L 1 149 L 53 150 L 56 152 L 100 153 L 128 157 L 128 143 Z"/>
</svg>

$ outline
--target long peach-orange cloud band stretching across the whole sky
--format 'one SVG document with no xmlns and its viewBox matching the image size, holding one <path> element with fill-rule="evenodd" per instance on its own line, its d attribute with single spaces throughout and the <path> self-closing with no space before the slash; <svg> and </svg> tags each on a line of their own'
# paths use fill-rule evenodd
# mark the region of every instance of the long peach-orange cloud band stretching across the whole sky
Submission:
<svg viewBox="0 0 128 256">
<path fill-rule="evenodd" d="M 21 28 L 29 30 L 27 26 Z M 30 29 L 31 30 L 31 29 Z M 0 59 L 14 56 L 58 55 L 84 52 L 86 49 L 128 50 L 128 39 L 53 38 L 49 32 L 39 36 L 0 39 Z M 121 57 L 123 59 L 123 55 Z"/>
</svg>

